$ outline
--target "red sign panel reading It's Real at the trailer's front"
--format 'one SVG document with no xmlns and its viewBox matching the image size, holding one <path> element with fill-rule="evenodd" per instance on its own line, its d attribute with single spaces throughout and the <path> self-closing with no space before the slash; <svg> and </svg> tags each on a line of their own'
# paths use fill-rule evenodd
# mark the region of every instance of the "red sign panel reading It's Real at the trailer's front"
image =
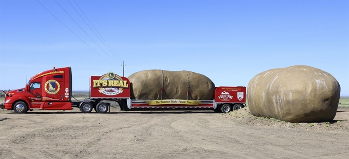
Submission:
<svg viewBox="0 0 349 159">
<path fill-rule="evenodd" d="M 90 78 L 91 98 L 127 98 L 130 97 L 130 81 L 113 72 Z"/>
</svg>

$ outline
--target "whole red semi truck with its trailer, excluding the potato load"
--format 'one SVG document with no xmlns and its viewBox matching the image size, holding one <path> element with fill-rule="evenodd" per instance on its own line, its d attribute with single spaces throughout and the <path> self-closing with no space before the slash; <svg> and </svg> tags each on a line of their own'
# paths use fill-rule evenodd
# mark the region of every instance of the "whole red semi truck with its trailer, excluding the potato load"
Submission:
<svg viewBox="0 0 349 159">
<path fill-rule="evenodd" d="M 214 110 L 229 112 L 246 106 L 246 87 L 216 87 L 212 100 L 132 100 L 132 84 L 127 77 L 108 72 L 90 77 L 90 97 L 72 102 L 71 67 L 40 72 L 30 78 L 25 88 L 5 92 L 5 103 L 0 107 L 16 113 L 29 110 L 72 110 L 83 113 L 94 109 L 98 113 L 110 112 L 110 103 L 117 102 L 122 111 L 131 110 Z"/>
</svg>

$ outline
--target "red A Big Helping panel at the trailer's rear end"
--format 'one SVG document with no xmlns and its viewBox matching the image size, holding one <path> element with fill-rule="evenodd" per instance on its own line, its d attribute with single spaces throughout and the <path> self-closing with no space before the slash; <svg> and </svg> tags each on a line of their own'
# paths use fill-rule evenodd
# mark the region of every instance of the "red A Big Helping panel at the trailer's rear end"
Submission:
<svg viewBox="0 0 349 159">
<path fill-rule="evenodd" d="M 215 98 L 220 103 L 245 103 L 246 87 L 217 87 Z"/>
</svg>

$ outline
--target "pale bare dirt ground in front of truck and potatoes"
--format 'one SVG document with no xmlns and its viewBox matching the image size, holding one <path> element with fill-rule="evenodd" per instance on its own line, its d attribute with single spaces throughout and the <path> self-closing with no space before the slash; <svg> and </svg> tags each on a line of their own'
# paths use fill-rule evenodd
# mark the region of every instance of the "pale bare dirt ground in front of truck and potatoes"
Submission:
<svg viewBox="0 0 349 159">
<path fill-rule="evenodd" d="M 83 114 L 0 110 L 1 158 L 347 158 L 349 109 L 329 123 L 284 123 L 248 107 Z M 338 122 L 339 121 L 339 122 Z"/>
</svg>

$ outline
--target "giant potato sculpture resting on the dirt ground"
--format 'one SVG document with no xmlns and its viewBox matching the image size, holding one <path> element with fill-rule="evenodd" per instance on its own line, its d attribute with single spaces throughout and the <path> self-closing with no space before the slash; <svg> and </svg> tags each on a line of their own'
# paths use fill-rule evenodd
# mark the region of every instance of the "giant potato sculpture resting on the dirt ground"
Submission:
<svg viewBox="0 0 349 159">
<path fill-rule="evenodd" d="M 286 122 L 327 122 L 336 116 L 340 85 L 335 77 L 310 66 L 271 69 L 257 74 L 247 87 L 255 116 Z"/>
</svg>

